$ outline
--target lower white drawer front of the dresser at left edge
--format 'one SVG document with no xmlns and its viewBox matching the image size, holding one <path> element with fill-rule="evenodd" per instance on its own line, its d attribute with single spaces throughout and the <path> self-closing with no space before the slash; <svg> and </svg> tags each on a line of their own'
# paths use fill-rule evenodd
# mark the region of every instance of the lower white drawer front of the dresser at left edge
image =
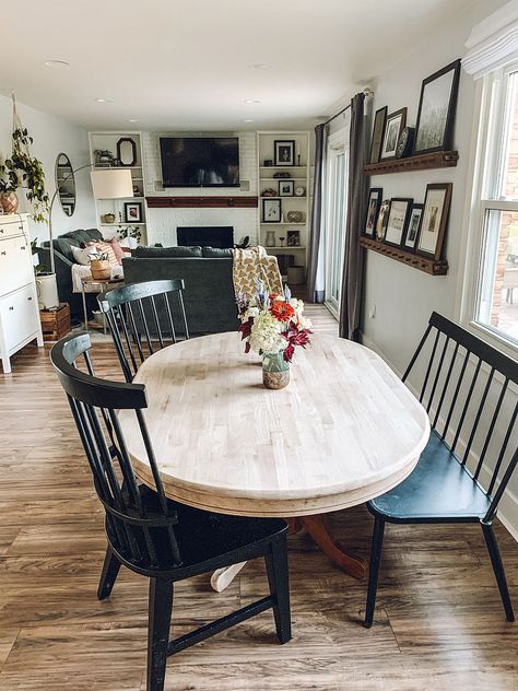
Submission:
<svg viewBox="0 0 518 691">
<path fill-rule="evenodd" d="M 0 297 L 0 320 L 9 351 L 38 331 L 39 312 L 34 285 Z"/>
</svg>

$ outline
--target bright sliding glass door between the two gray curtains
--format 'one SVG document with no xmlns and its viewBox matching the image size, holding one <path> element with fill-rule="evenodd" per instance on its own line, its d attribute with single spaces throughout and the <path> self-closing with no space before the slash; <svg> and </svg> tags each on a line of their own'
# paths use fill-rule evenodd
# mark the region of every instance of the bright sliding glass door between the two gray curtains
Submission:
<svg viewBox="0 0 518 691">
<path fill-rule="evenodd" d="M 338 317 L 342 288 L 348 209 L 349 129 L 331 134 L 327 148 L 326 202 L 326 304 Z"/>
</svg>

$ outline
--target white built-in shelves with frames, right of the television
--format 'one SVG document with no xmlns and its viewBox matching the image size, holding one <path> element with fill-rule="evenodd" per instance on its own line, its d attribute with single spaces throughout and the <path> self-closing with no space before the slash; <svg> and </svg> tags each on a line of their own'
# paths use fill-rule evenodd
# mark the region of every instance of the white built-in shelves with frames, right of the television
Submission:
<svg viewBox="0 0 518 691">
<path fill-rule="evenodd" d="M 295 164 L 296 165 L 264 165 L 264 161 L 275 163 L 274 142 L 275 140 L 293 140 L 295 141 Z M 258 180 L 259 180 L 259 204 L 258 204 L 258 227 L 259 244 L 268 248 L 268 253 L 272 255 L 279 254 L 279 263 L 283 278 L 286 278 L 287 260 L 286 255 L 293 255 L 293 263 L 306 268 L 306 251 L 309 233 L 309 184 L 310 184 L 310 147 L 309 132 L 307 131 L 259 131 L 257 133 L 257 161 L 258 161 Z M 289 173 L 290 177 L 275 177 L 279 173 Z M 303 187 L 304 194 L 301 196 L 263 196 L 267 189 L 273 188 L 279 190 L 279 184 L 293 180 L 294 188 Z M 279 223 L 263 222 L 262 219 L 262 199 L 275 199 L 281 202 L 281 221 Z M 298 223 L 290 223 L 286 221 L 286 214 L 290 211 L 302 211 L 304 221 Z M 287 232 L 293 227 L 299 233 L 299 245 L 287 245 Z M 267 245 L 267 234 L 271 239 L 271 232 L 275 237 L 275 245 L 270 243 Z M 283 246 L 281 246 L 280 237 L 284 237 Z"/>
</svg>

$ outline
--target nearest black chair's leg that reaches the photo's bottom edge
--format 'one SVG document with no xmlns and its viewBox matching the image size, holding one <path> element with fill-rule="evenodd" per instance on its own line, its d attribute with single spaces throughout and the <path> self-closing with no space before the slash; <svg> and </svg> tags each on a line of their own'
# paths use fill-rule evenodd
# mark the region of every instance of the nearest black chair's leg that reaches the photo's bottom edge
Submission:
<svg viewBox="0 0 518 691">
<path fill-rule="evenodd" d="M 150 614 L 148 622 L 148 691 L 163 691 L 170 614 L 173 612 L 173 582 L 167 578 L 150 581 Z"/>
</svg>

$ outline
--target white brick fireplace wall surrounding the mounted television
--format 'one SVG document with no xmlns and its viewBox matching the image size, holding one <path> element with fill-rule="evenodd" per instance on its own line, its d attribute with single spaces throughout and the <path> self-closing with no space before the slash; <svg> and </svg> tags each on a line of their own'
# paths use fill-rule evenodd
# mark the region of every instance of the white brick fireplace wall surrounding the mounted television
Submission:
<svg viewBox="0 0 518 691">
<path fill-rule="evenodd" d="M 204 132 L 209 134 L 209 132 Z M 180 132 L 144 132 L 142 137 L 145 195 L 151 197 L 217 197 L 217 196 L 257 196 L 257 147 L 255 132 L 225 132 L 225 136 L 239 138 L 239 177 L 249 183 L 247 189 L 186 189 L 174 188 L 160 191 L 162 171 L 160 164 L 161 137 L 186 134 Z M 192 132 L 191 132 L 192 134 Z M 216 133 L 212 133 L 217 136 Z M 221 134 L 221 132 L 220 132 Z M 158 191 L 157 191 L 158 188 Z M 234 241 L 249 235 L 252 244 L 257 243 L 257 209 L 150 209 L 146 208 L 148 243 L 162 243 L 164 246 L 176 245 L 176 227 L 178 225 L 233 225 Z"/>
</svg>

